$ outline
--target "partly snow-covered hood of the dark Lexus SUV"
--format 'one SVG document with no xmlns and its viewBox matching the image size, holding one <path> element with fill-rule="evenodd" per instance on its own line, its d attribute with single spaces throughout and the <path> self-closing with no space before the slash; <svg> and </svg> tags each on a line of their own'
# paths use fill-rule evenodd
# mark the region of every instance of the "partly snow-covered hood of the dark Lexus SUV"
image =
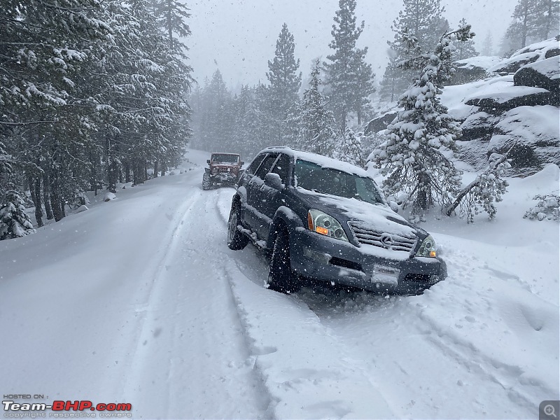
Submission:
<svg viewBox="0 0 560 420">
<path fill-rule="evenodd" d="M 423 239 L 428 236 L 428 232 L 409 223 L 386 204 L 370 204 L 355 198 L 337 197 L 300 188 L 298 193 L 302 194 L 309 208 L 324 211 L 344 225 L 352 221 L 363 228 L 404 237 L 414 236 Z"/>
</svg>

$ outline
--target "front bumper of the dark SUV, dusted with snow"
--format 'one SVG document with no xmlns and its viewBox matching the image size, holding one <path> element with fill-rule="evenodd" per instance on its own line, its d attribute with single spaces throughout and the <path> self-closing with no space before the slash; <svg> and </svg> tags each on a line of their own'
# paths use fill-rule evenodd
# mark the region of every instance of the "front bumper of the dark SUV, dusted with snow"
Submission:
<svg viewBox="0 0 560 420">
<path fill-rule="evenodd" d="M 357 247 L 304 228 L 297 228 L 292 235 L 292 269 L 311 279 L 380 293 L 414 295 L 447 276 L 447 267 L 440 258 L 409 258 L 402 251 L 379 248 L 380 253 L 395 253 L 395 258 L 386 258 L 367 253 L 366 246 Z M 374 251 L 372 246 L 367 247 Z"/>
</svg>

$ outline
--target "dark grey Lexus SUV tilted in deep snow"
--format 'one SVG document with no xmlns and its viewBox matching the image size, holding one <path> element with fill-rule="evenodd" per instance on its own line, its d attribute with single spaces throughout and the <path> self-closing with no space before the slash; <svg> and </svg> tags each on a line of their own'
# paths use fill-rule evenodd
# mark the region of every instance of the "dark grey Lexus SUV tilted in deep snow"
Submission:
<svg viewBox="0 0 560 420">
<path fill-rule="evenodd" d="M 241 174 L 228 246 L 272 251 L 269 286 L 297 290 L 301 277 L 381 293 L 417 294 L 447 275 L 435 242 L 388 207 L 363 169 L 274 147 Z"/>
</svg>

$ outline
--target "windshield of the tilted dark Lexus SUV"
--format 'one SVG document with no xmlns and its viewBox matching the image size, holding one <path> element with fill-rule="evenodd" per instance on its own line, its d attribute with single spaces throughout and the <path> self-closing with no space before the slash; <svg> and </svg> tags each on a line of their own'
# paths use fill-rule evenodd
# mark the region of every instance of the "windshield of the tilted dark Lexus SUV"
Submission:
<svg viewBox="0 0 560 420">
<path fill-rule="evenodd" d="M 337 197 L 356 198 L 370 204 L 383 202 L 372 179 L 321 167 L 307 160 L 298 159 L 295 163 L 295 186 Z"/>
</svg>

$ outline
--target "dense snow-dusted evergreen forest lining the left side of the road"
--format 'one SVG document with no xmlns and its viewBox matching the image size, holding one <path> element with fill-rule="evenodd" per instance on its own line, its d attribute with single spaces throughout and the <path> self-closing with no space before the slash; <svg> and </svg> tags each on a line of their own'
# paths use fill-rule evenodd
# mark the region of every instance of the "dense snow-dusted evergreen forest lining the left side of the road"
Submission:
<svg viewBox="0 0 560 420">
<path fill-rule="evenodd" d="M 0 10 L 0 218 L 28 190 L 37 225 L 59 221 L 85 190 L 142 183 L 148 165 L 157 176 L 181 158 L 192 82 L 183 3 L 1 0 Z M 6 223 L 4 237 L 22 235 Z"/>
</svg>

